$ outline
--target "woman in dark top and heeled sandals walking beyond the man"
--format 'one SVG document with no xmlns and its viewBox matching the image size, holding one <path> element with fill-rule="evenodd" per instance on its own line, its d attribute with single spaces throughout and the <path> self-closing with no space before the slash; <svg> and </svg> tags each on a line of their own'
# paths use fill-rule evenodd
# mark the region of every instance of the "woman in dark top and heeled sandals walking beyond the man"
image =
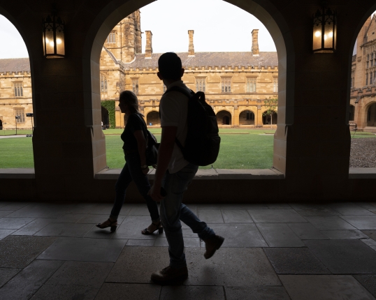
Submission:
<svg viewBox="0 0 376 300">
<path fill-rule="evenodd" d="M 124 203 L 126 188 L 129 183 L 134 181 L 138 191 L 146 201 L 147 209 L 149 209 L 152 224 L 142 230 L 142 234 L 152 234 L 155 231 L 163 232 L 161 220 L 159 218 L 159 211 L 157 202 L 147 195 L 150 190 L 150 183 L 147 179 L 147 172 L 149 167 L 146 165 L 146 140 L 144 135 L 144 128 L 146 128 L 143 115 L 138 109 L 138 99 L 132 91 L 122 91 L 119 98 L 119 107 L 122 113 L 126 114 L 128 120 L 124 132 L 121 135 L 124 142 L 123 151 L 125 158 L 125 165 L 120 173 L 119 179 L 115 184 L 115 203 L 110 214 L 110 218 L 103 223 L 99 223 L 96 227 L 101 229 L 110 227 L 111 232 L 114 232 L 117 227 L 117 217 Z"/>
</svg>

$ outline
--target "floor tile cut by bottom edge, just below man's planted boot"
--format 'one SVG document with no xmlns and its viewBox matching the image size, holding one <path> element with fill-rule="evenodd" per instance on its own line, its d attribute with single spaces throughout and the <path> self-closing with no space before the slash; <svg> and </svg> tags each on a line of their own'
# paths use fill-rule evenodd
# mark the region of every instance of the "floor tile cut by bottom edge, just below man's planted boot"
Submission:
<svg viewBox="0 0 376 300">
<path fill-rule="evenodd" d="M 164 300 L 224 300 L 223 287 L 164 286 L 161 291 Z M 228 299 L 228 298 L 227 298 Z"/>
</svg>

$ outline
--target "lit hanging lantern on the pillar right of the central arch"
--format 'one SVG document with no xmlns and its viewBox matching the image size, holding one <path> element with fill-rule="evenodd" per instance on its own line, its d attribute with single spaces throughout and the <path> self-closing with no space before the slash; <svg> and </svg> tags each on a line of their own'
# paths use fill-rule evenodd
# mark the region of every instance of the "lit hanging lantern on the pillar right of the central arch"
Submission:
<svg viewBox="0 0 376 300">
<path fill-rule="evenodd" d="M 335 10 L 322 6 L 313 15 L 313 47 L 315 53 L 333 53 L 337 42 L 337 15 Z"/>
</svg>

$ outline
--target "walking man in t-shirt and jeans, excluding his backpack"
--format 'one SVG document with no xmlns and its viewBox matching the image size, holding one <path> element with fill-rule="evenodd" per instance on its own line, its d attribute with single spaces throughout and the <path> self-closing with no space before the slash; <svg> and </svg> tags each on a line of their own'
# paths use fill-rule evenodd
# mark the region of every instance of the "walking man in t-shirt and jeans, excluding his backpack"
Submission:
<svg viewBox="0 0 376 300">
<path fill-rule="evenodd" d="M 161 201 L 160 217 L 168 241 L 170 264 L 163 270 L 152 273 L 151 279 L 154 283 L 166 285 L 182 282 L 188 277 L 180 220 L 205 241 L 204 257 L 206 259 L 212 257 L 222 246 L 224 238 L 216 235 L 205 222 L 199 220 L 182 203 L 183 193 L 194 179 L 198 166 L 185 160 L 182 151 L 175 143 L 175 138 L 177 138 L 183 146 L 185 145 L 189 98 L 179 91 L 168 91 L 168 89 L 180 87 L 189 92 L 190 90 L 181 80 L 184 69 L 177 54 L 173 52 L 162 54 L 158 60 L 158 68 L 157 75 L 160 80 L 163 80 L 167 90 L 160 104 L 162 136 L 158 167 L 150 196 L 155 201 Z M 166 197 L 161 195 L 161 187 L 166 190 Z"/>
</svg>

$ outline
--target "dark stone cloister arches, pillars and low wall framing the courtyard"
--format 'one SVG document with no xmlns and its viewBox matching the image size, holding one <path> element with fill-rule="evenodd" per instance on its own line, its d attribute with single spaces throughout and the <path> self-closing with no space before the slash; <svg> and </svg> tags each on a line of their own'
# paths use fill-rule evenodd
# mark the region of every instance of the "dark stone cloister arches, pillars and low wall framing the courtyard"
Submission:
<svg viewBox="0 0 376 300">
<path fill-rule="evenodd" d="M 117 22 L 151 2 L 59 2 L 59 14 L 66 20 L 66 57 L 45 59 L 41 19 L 50 14 L 55 2 L 20 0 L 15 6 L 1 0 L 0 13 L 20 31 L 29 51 L 35 120 L 34 171 L 2 177 L 2 199 L 113 201 L 116 176 L 108 172 L 106 165 L 99 58 L 103 40 Z M 277 48 L 278 117 L 270 171 L 277 175 L 253 180 L 243 174 L 213 174 L 210 180 L 192 183 L 187 202 L 228 202 L 235 194 L 237 202 L 374 200 L 375 177 L 349 174 L 350 71 L 343 70 L 351 70 L 356 36 L 376 10 L 375 1 L 329 3 L 338 13 L 337 49 L 335 53 L 321 54 L 312 52 L 310 19 L 319 2 L 227 2 L 258 17 Z M 375 105 L 370 105 L 368 111 L 370 121 L 375 120 Z M 51 123 L 49 116 L 55 114 L 59 118 Z M 231 119 L 228 116 L 229 123 L 240 114 Z M 71 120 L 68 125 L 67 119 Z M 322 134 L 328 128 L 331 135 Z M 271 187 L 275 193 L 265 193 Z M 140 200 L 137 193 L 129 193 L 134 200 Z"/>
</svg>

